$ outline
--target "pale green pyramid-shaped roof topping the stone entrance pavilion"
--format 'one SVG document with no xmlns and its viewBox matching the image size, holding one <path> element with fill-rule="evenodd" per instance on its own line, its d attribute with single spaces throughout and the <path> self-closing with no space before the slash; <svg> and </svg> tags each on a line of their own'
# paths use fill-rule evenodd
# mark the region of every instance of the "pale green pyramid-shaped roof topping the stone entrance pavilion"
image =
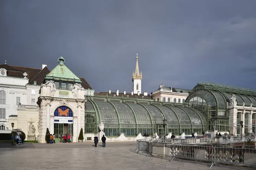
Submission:
<svg viewBox="0 0 256 170">
<path fill-rule="evenodd" d="M 63 57 L 58 58 L 58 63 L 59 64 L 46 75 L 45 79 L 64 79 L 67 81 L 81 82 L 79 77 L 73 74 L 73 72 L 64 65 L 65 59 Z"/>
</svg>

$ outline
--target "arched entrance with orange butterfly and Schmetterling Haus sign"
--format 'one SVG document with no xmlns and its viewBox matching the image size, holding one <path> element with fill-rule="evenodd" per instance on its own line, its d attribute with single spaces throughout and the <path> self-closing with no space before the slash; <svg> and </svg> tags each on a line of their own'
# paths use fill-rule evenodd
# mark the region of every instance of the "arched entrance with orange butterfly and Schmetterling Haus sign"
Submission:
<svg viewBox="0 0 256 170">
<path fill-rule="evenodd" d="M 73 111 L 67 106 L 60 106 L 54 111 L 55 142 L 59 142 L 60 134 L 70 134 L 73 141 Z"/>
</svg>

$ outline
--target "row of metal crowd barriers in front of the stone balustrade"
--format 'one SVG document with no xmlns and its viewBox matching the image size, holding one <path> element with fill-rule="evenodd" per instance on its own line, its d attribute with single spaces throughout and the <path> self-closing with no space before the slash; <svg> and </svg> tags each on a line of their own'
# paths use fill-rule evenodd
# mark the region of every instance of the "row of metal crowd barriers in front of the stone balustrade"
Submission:
<svg viewBox="0 0 256 170">
<path fill-rule="evenodd" d="M 189 159 L 208 161 L 209 167 L 218 163 L 252 165 L 256 167 L 256 146 L 230 145 L 230 144 L 177 144 L 166 140 L 142 141 L 137 140 L 137 152 L 148 155 L 159 155 L 173 159 Z"/>
</svg>

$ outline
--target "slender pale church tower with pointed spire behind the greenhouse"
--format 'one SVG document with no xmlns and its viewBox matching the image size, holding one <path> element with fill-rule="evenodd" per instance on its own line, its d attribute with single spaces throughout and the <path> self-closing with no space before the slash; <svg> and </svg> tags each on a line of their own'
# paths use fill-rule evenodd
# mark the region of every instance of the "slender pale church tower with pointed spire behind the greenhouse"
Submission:
<svg viewBox="0 0 256 170">
<path fill-rule="evenodd" d="M 136 68 L 135 72 L 132 74 L 132 82 L 133 82 L 133 92 L 137 94 L 138 91 L 141 93 L 141 79 L 142 73 L 139 71 L 139 64 L 138 64 L 138 54 L 136 57 Z"/>
</svg>

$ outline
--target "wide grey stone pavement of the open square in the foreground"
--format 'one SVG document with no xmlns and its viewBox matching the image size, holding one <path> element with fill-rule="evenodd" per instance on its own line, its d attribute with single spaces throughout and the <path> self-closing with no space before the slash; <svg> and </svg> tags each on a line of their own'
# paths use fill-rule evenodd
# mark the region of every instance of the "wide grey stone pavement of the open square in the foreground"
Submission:
<svg viewBox="0 0 256 170">
<path fill-rule="evenodd" d="M 170 162 L 135 153 L 135 148 L 136 142 L 106 142 L 106 147 L 93 147 L 93 142 L 0 143 L 0 170 L 255 170 L 223 164 L 209 168 L 210 163 L 181 159 Z"/>
</svg>

